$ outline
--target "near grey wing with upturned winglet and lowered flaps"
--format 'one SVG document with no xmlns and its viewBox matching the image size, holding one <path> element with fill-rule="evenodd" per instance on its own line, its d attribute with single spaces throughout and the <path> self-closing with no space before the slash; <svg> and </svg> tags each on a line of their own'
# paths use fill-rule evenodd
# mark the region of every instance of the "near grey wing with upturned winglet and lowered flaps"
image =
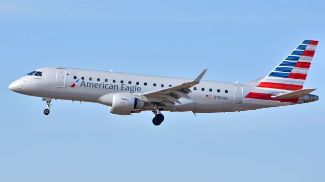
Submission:
<svg viewBox="0 0 325 182">
<path fill-rule="evenodd" d="M 139 96 L 145 97 L 149 102 L 158 102 L 165 106 L 173 108 L 175 106 L 175 103 L 182 104 L 179 102 L 180 98 L 184 97 L 190 99 L 188 94 L 191 93 L 191 90 L 189 88 L 196 84 L 199 84 L 207 70 L 208 69 L 203 70 L 202 73 L 191 82 L 185 82 L 165 89 L 140 93 Z"/>
</svg>

